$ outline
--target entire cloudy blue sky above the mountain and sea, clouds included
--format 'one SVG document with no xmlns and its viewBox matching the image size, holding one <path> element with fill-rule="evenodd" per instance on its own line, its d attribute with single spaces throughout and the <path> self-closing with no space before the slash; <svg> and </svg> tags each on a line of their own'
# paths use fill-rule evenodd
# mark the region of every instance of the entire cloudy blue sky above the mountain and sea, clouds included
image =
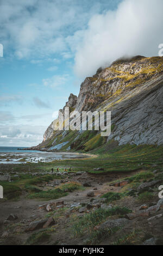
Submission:
<svg viewBox="0 0 163 256">
<path fill-rule="evenodd" d="M 41 143 L 100 66 L 158 55 L 162 9 L 162 0 L 0 0 L 0 146 Z"/>
</svg>

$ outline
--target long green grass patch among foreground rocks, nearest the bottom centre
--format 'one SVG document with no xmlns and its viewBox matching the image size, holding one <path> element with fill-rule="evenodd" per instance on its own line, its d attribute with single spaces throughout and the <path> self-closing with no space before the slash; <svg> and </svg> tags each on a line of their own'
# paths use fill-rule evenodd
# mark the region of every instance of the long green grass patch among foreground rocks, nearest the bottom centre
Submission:
<svg viewBox="0 0 163 256">
<path fill-rule="evenodd" d="M 126 207 L 121 208 L 119 206 L 116 206 L 115 208 L 109 210 L 100 208 L 93 212 L 90 212 L 89 214 L 85 214 L 73 224 L 72 228 L 74 236 L 83 235 L 85 230 L 91 233 L 93 227 L 104 222 L 109 216 L 123 216 L 129 212 L 131 212 L 131 210 Z"/>
</svg>

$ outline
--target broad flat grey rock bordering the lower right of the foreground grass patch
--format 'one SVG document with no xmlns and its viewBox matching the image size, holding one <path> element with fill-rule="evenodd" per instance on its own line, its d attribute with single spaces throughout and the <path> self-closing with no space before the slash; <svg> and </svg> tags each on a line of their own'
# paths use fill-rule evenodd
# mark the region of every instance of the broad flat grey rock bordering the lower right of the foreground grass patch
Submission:
<svg viewBox="0 0 163 256">
<path fill-rule="evenodd" d="M 98 228 L 99 229 L 108 229 L 108 228 L 115 228 L 115 227 L 121 227 L 122 225 L 128 224 L 130 221 L 126 218 L 118 218 L 117 220 L 108 220 L 101 224 Z"/>
</svg>

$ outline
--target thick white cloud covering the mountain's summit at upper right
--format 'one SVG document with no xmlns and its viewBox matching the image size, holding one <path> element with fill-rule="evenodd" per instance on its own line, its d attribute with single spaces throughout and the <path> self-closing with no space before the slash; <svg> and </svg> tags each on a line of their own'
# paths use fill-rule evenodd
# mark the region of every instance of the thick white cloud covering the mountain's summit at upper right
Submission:
<svg viewBox="0 0 163 256">
<path fill-rule="evenodd" d="M 124 56 L 157 56 L 162 10 L 162 0 L 124 0 L 117 10 L 91 17 L 82 32 L 82 45 L 74 46 L 76 74 L 83 78 L 93 75 L 100 66 Z M 75 42 L 76 38 L 77 33 L 69 40 Z"/>
</svg>

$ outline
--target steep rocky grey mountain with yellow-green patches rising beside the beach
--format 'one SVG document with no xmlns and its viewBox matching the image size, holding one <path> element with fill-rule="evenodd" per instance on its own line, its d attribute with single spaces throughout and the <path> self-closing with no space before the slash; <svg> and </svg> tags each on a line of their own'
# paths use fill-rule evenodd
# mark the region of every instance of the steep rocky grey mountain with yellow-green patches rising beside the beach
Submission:
<svg viewBox="0 0 163 256">
<path fill-rule="evenodd" d="M 43 142 L 31 149 L 91 151 L 103 145 L 163 144 L 163 57 L 136 56 L 99 68 L 70 94 L 70 112 L 111 111 L 111 134 L 100 131 L 54 131 L 53 122 Z M 64 109 L 61 112 L 64 113 Z"/>
</svg>

